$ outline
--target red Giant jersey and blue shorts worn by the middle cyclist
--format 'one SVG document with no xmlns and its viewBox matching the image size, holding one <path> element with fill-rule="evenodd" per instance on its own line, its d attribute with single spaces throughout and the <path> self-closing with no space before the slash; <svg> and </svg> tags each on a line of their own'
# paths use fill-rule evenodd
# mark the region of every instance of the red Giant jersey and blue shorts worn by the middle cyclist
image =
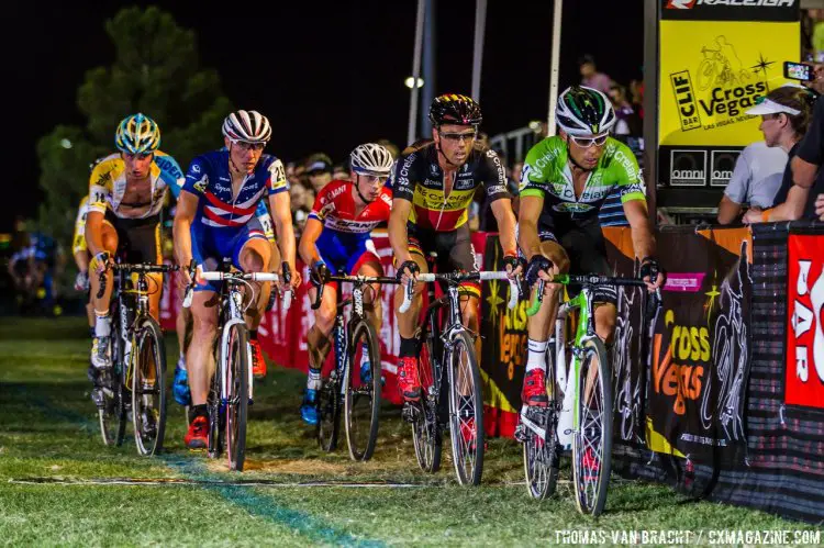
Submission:
<svg viewBox="0 0 824 548">
<path fill-rule="evenodd" d="M 318 193 L 309 219 L 323 223 L 315 247 L 332 273 L 357 273 L 367 260 L 380 262 L 369 238 L 372 228 L 389 221 L 392 192 L 386 187 L 359 213 L 355 214 L 354 183 L 333 180 Z"/>
</svg>

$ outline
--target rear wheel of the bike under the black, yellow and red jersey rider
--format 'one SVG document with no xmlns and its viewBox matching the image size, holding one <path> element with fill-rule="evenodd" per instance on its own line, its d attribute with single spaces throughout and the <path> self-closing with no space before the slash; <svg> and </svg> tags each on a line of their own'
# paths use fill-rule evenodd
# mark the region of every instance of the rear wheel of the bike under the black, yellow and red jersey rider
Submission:
<svg viewBox="0 0 824 548">
<path fill-rule="evenodd" d="M 421 349 L 417 362 L 417 374 L 421 381 L 420 413 L 412 423 L 412 441 L 415 448 L 415 459 L 421 470 L 435 473 L 441 469 L 443 451 L 443 432 L 438 420 L 437 404 L 441 394 L 442 370 L 435 367 L 437 358 L 437 309 L 426 312 L 427 321 L 421 327 L 419 347 Z"/>
</svg>

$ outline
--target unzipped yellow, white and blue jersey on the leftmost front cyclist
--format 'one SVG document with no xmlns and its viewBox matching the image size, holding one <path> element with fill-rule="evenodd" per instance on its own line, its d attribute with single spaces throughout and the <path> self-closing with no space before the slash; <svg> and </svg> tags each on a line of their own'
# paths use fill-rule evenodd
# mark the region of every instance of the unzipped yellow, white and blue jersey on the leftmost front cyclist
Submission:
<svg viewBox="0 0 824 548">
<path fill-rule="evenodd" d="M 180 184 L 183 172 L 177 165 L 175 158 L 166 153 L 156 150 L 149 168 L 149 180 L 152 191 L 149 201 L 141 204 L 131 204 L 134 208 L 148 206 L 140 219 L 154 217 L 160 214 L 166 189 Z M 174 192 L 174 190 L 172 190 Z M 126 165 L 119 153 L 111 154 L 103 158 L 91 171 L 89 178 L 89 211 L 105 213 L 110 210 L 115 216 L 121 219 L 134 219 L 132 215 L 125 215 L 121 211 L 123 197 L 126 193 Z M 133 209 L 133 208 L 129 208 Z"/>
</svg>

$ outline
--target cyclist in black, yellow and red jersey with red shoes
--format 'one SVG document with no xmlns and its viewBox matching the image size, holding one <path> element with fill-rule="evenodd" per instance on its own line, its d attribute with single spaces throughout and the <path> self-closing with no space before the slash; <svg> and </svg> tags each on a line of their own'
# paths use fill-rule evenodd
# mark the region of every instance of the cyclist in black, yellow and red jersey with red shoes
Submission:
<svg viewBox="0 0 824 548">
<path fill-rule="evenodd" d="M 392 174 L 392 212 L 389 242 L 405 284 L 426 272 L 425 257 L 436 251 L 442 272 L 477 270 L 469 236 L 468 208 L 483 186 L 500 227 L 506 269 L 515 276 L 520 264 L 515 247 L 515 215 L 506 190 L 506 176 L 494 150 L 476 142 L 482 121 L 478 103 L 469 97 L 444 94 L 430 107 L 432 141 L 417 142 L 398 158 Z M 414 332 L 421 311 L 423 283 L 415 284 L 412 306 L 399 312 L 403 291 L 396 293 L 396 315 L 401 336 L 398 383 L 407 401 L 417 401 L 421 382 Z M 480 286 L 461 287 L 464 324 L 478 331 Z"/>
</svg>

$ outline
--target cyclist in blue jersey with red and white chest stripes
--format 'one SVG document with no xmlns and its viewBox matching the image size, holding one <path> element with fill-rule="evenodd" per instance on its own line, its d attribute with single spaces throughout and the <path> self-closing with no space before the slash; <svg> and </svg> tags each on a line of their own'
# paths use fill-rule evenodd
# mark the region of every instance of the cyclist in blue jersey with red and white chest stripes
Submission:
<svg viewBox="0 0 824 548">
<path fill-rule="evenodd" d="M 175 214 L 175 253 L 182 268 L 193 259 L 204 269 L 230 258 L 245 272 L 269 269 L 271 247 L 255 217 L 258 202 L 267 198 L 278 233 L 280 255 L 288 265 L 293 287 L 300 283 L 294 268 L 294 232 L 289 203 L 289 184 L 283 164 L 263 154 L 271 137 L 269 121 L 256 111 L 237 111 L 223 122 L 225 150 L 194 158 L 189 166 Z M 188 271 L 186 273 L 187 282 Z M 192 298 L 193 331 L 187 353 L 191 390 L 191 424 L 185 437 L 189 448 L 208 443 L 207 395 L 209 371 L 213 370 L 212 345 L 218 333 L 219 282 L 196 280 Z M 257 345 L 257 326 L 269 299 L 269 284 L 256 290 L 257 305 L 247 310 L 247 325 L 255 347 L 253 370 L 265 372 L 266 362 Z"/>
</svg>

